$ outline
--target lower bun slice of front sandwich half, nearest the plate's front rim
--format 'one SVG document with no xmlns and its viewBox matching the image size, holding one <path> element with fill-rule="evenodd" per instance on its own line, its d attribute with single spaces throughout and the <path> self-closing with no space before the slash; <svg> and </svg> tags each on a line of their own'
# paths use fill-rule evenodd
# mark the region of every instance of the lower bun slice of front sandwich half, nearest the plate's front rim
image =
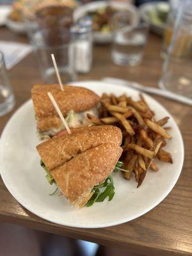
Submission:
<svg viewBox="0 0 192 256">
<path fill-rule="evenodd" d="M 83 207 L 92 196 L 93 186 L 106 180 L 121 154 L 118 144 L 103 143 L 77 154 L 51 174 L 70 203 Z"/>
</svg>

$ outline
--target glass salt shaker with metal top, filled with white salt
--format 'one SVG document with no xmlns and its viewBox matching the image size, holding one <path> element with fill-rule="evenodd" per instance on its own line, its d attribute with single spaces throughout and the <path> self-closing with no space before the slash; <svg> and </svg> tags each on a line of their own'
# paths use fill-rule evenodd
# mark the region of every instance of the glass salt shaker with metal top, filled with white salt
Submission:
<svg viewBox="0 0 192 256">
<path fill-rule="evenodd" d="M 83 17 L 70 31 L 75 41 L 76 71 L 86 74 L 90 72 L 93 61 L 92 20 Z"/>
</svg>

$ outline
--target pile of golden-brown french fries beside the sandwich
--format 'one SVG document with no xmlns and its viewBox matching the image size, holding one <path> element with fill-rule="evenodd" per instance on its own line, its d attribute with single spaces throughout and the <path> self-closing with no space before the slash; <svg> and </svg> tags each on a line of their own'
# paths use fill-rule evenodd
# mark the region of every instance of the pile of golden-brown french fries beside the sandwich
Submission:
<svg viewBox="0 0 192 256">
<path fill-rule="evenodd" d="M 143 95 L 140 100 L 134 101 L 125 94 L 116 97 L 104 93 L 102 95 L 102 108 L 100 118 L 88 114 L 94 125 L 112 124 L 120 127 L 123 134 L 121 157 L 122 171 L 125 179 L 131 179 L 132 173 L 138 187 L 141 186 L 145 175 L 150 168 L 157 172 L 157 164 L 154 159 L 173 163 L 172 156 L 163 149 L 166 140 L 172 136 L 168 134 L 170 127 L 164 127 L 169 117 L 156 120 Z"/>
</svg>

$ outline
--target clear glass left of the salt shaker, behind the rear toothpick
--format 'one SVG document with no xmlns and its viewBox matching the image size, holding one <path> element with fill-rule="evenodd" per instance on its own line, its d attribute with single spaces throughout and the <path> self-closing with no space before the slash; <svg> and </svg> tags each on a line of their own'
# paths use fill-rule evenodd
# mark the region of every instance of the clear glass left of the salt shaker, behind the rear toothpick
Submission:
<svg viewBox="0 0 192 256">
<path fill-rule="evenodd" d="M 61 81 L 68 83 L 76 79 L 74 44 L 71 42 L 68 30 L 63 28 L 38 30 L 31 37 L 31 45 L 45 83 L 57 83 L 51 54 L 55 56 Z"/>
</svg>

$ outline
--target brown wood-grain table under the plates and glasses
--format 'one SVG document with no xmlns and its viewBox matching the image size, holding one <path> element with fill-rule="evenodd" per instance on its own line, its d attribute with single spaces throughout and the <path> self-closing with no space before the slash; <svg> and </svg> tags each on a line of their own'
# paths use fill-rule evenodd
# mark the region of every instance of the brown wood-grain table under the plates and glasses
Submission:
<svg viewBox="0 0 192 256">
<path fill-rule="evenodd" d="M 15 35 L 5 28 L 0 29 L 0 35 L 3 40 L 26 42 L 24 36 Z M 143 63 L 134 68 L 118 67 L 111 61 L 109 45 L 97 45 L 94 48 L 92 72 L 78 78 L 87 80 L 113 76 L 157 86 L 162 68 L 160 51 L 161 40 L 156 35 L 150 35 Z M 32 54 L 12 68 L 9 74 L 17 105 L 12 113 L 0 118 L 0 133 L 13 112 L 29 99 L 31 86 L 41 81 Z M 62 227 L 42 220 L 24 209 L 10 195 L 0 179 L 0 220 L 99 244 L 127 248 L 143 255 L 192 255 L 192 109 L 162 97 L 155 98 L 175 118 L 184 138 L 186 152 L 179 181 L 170 195 L 155 209 L 136 220 L 102 230 Z"/>
</svg>

